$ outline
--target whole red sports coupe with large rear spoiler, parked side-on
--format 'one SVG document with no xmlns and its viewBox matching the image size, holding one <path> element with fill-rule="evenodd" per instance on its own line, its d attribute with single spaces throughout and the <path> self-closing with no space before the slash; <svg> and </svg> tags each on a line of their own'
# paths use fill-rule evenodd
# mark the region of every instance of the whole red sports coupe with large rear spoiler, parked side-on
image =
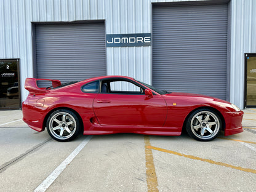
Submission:
<svg viewBox="0 0 256 192">
<path fill-rule="evenodd" d="M 51 81 L 39 88 L 37 81 Z M 220 130 L 242 132 L 243 112 L 236 105 L 205 95 L 158 90 L 125 76 L 102 76 L 62 84 L 27 78 L 30 92 L 22 104 L 23 121 L 60 142 L 84 135 L 135 133 L 180 135 L 182 129 L 199 141 Z"/>
</svg>

